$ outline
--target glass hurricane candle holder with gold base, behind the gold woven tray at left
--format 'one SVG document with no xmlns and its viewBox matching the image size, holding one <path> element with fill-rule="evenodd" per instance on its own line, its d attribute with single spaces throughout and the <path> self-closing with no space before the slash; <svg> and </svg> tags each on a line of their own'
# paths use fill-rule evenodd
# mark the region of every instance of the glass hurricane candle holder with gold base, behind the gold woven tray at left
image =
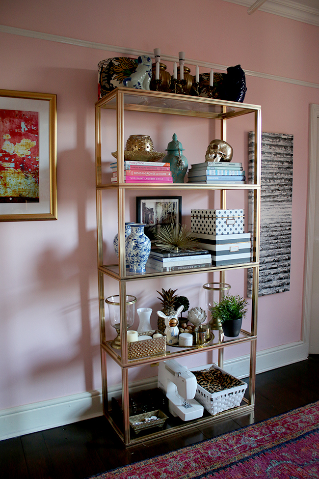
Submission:
<svg viewBox="0 0 319 479">
<path fill-rule="evenodd" d="M 134 314 L 135 314 L 135 296 L 130 294 L 126 295 L 126 329 L 133 326 Z M 108 306 L 109 321 L 111 326 L 116 330 L 117 337 L 111 342 L 111 347 L 115 349 L 121 349 L 121 330 L 120 330 L 120 295 L 108 296 L 105 300 Z"/>
</svg>

